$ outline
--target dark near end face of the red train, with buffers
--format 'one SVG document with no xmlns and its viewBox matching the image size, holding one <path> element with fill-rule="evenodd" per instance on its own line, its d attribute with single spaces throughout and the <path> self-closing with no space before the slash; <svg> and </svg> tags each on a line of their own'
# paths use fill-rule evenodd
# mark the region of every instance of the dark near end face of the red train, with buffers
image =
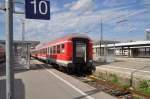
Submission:
<svg viewBox="0 0 150 99">
<path fill-rule="evenodd" d="M 91 74 L 95 70 L 93 65 L 92 41 L 86 37 L 72 38 L 72 63 L 78 73 Z"/>
</svg>

